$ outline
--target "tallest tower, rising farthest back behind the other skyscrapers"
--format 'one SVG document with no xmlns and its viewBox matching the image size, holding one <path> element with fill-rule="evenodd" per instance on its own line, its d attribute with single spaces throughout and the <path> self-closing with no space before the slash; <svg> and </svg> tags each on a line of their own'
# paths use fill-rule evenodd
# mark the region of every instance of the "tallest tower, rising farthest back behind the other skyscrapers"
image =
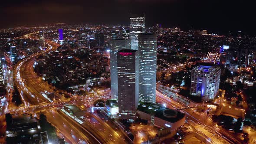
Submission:
<svg viewBox="0 0 256 144">
<path fill-rule="evenodd" d="M 138 34 L 145 32 L 145 16 L 132 16 L 130 18 L 131 49 L 138 49 Z"/>
</svg>

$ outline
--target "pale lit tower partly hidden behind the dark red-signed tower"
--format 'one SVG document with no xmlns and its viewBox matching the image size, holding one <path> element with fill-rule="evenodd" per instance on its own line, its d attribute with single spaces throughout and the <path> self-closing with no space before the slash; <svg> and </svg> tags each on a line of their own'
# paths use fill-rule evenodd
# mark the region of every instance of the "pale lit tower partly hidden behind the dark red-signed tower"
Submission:
<svg viewBox="0 0 256 144">
<path fill-rule="evenodd" d="M 130 39 L 110 39 L 111 98 L 118 98 L 117 52 L 130 49 Z"/>
</svg>

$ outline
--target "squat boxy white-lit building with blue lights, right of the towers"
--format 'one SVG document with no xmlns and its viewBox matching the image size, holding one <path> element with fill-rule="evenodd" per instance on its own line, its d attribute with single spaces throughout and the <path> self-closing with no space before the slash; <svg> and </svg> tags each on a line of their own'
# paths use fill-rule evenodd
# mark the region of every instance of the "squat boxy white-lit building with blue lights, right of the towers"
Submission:
<svg viewBox="0 0 256 144">
<path fill-rule="evenodd" d="M 210 63 L 203 63 L 191 73 L 190 94 L 200 96 L 203 101 L 213 99 L 220 86 L 220 69 Z"/>
</svg>

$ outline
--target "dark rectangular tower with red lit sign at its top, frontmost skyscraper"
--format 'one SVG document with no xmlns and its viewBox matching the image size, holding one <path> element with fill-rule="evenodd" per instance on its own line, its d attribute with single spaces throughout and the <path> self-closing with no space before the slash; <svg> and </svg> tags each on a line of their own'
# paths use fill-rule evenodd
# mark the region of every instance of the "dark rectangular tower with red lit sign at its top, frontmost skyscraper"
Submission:
<svg viewBox="0 0 256 144">
<path fill-rule="evenodd" d="M 119 118 L 135 121 L 138 108 L 139 52 L 122 49 L 117 53 Z"/>
</svg>

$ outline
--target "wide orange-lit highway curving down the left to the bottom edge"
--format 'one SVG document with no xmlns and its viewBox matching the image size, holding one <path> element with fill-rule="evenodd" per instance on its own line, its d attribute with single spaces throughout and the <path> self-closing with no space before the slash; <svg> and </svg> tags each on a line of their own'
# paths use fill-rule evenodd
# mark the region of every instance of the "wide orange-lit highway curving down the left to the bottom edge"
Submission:
<svg viewBox="0 0 256 144">
<path fill-rule="evenodd" d="M 50 43 L 50 48 L 45 52 L 54 50 L 59 46 L 58 44 L 51 41 L 47 41 L 47 43 Z M 44 82 L 41 77 L 37 76 L 33 70 L 33 65 L 35 63 L 36 56 L 41 54 L 44 53 L 36 53 L 26 59 L 23 59 L 13 70 L 15 82 L 25 105 L 23 108 L 25 108 L 26 111 L 29 111 L 31 109 L 35 110 L 35 107 L 32 105 L 46 105 L 45 107 L 41 107 L 41 109 L 44 110 L 48 108 L 48 111 L 46 110 L 43 112 L 47 116 L 47 120 L 57 128 L 59 131 L 58 135 L 63 136 L 68 142 L 81 144 L 85 142 L 91 144 L 114 144 L 116 142 L 128 143 L 126 141 L 128 140 L 127 135 L 120 132 L 121 130 L 119 128 L 112 128 L 112 126 L 108 125 L 107 122 L 95 118 L 92 114 L 88 115 L 92 123 L 85 121 L 83 124 L 78 124 L 74 119 L 65 115 L 62 111 L 52 110 L 52 107 L 54 106 L 58 106 L 60 108 L 62 107 L 62 105 L 57 103 L 57 101 L 61 101 L 61 104 L 64 104 L 66 101 L 74 100 L 76 97 L 72 96 L 69 99 L 65 98 L 64 96 L 54 91 L 56 88 Z M 54 98 L 48 97 L 47 93 L 53 93 L 55 95 Z M 97 100 L 98 98 L 99 96 L 94 96 L 93 99 L 90 99 L 90 102 L 87 101 L 87 103 L 85 103 L 84 99 L 84 108 L 89 108 L 93 101 Z M 55 104 L 47 105 L 47 103 L 51 104 L 52 102 L 54 103 L 54 101 L 56 101 Z M 37 111 L 39 110 L 40 108 L 37 109 Z M 16 112 L 22 113 L 24 111 L 21 110 Z M 103 131 L 103 129 L 105 130 Z"/>
</svg>

